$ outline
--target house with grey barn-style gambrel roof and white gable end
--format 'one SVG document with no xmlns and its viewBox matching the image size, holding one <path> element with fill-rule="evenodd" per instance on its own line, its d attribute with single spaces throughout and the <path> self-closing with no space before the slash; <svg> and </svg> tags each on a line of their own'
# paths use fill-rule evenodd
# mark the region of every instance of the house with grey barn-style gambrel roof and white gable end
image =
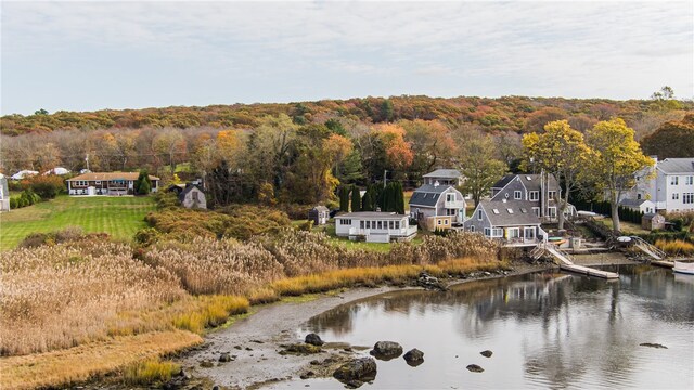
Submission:
<svg viewBox="0 0 694 390">
<path fill-rule="evenodd" d="M 465 220 L 465 199 L 450 184 L 424 184 L 412 193 L 410 218 L 428 231 L 462 226 Z"/>
</svg>

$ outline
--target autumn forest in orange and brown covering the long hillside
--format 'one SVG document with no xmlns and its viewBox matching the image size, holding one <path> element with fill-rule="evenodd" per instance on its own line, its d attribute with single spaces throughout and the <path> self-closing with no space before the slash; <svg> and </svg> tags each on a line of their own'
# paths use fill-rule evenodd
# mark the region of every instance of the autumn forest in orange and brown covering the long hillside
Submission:
<svg viewBox="0 0 694 390">
<path fill-rule="evenodd" d="M 645 142 L 646 153 L 691 156 L 693 120 L 683 118 L 693 108 L 691 101 L 656 92 L 630 101 L 404 95 L 91 113 L 39 109 L 1 118 L 0 171 L 146 169 L 165 181 L 175 173 L 203 178 L 220 204 L 308 205 L 336 200 L 338 184 L 363 187 L 386 179 L 414 187 L 433 169 L 464 169 L 471 161 L 496 172 L 517 171 L 523 135 L 562 119 L 584 133 L 619 117 Z"/>
</svg>

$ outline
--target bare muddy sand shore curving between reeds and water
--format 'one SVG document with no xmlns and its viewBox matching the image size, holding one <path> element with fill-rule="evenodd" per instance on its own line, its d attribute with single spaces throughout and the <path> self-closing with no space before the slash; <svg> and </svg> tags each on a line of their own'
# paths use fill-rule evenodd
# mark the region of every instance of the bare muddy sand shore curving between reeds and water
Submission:
<svg viewBox="0 0 694 390">
<path fill-rule="evenodd" d="M 552 264 L 514 264 L 512 272 L 504 274 L 479 274 L 479 277 L 457 280 L 465 283 L 493 277 L 504 277 L 537 272 L 554 268 Z M 411 287 L 408 287 L 411 288 Z M 347 359 L 350 353 L 343 347 L 327 346 L 327 354 L 320 355 L 281 355 L 281 344 L 303 342 L 305 335 L 298 329 L 309 318 L 327 310 L 358 299 L 383 292 L 403 289 L 399 287 L 354 288 L 339 294 L 319 295 L 304 302 L 278 302 L 265 306 L 246 318 L 240 320 L 228 328 L 217 329 L 205 337 L 205 344 L 178 359 L 185 373 L 194 378 L 205 377 L 213 384 L 226 388 L 257 387 L 278 380 L 299 376 L 303 367 L 314 360 Z M 229 353 L 231 362 L 220 363 L 222 353 Z M 318 368 L 318 367 L 317 367 Z"/>
</svg>

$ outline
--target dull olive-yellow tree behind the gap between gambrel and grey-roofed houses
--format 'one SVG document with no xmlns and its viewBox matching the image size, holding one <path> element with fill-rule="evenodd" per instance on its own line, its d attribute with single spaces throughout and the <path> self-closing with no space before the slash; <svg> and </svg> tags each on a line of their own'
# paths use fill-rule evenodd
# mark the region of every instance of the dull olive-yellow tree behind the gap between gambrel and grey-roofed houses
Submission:
<svg viewBox="0 0 694 390">
<path fill-rule="evenodd" d="M 459 147 L 459 170 L 465 178 L 461 190 L 464 194 L 471 194 L 477 206 L 479 199 L 503 177 L 507 166 L 494 158 L 494 143 L 488 135 L 471 132 Z"/>
</svg>

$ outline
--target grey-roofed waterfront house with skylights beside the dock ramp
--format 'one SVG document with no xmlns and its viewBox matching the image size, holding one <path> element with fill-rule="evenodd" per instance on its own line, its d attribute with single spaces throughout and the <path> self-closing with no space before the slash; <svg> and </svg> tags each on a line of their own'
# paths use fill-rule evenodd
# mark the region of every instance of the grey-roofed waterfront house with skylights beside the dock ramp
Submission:
<svg viewBox="0 0 694 390">
<path fill-rule="evenodd" d="M 506 245 L 535 246 L 547 239 L 540 218 L 532 211 L 535 205 L 529 200 L 480 200 L 472 217 L 463 222 L 463 227 Z"/>
</svg>

